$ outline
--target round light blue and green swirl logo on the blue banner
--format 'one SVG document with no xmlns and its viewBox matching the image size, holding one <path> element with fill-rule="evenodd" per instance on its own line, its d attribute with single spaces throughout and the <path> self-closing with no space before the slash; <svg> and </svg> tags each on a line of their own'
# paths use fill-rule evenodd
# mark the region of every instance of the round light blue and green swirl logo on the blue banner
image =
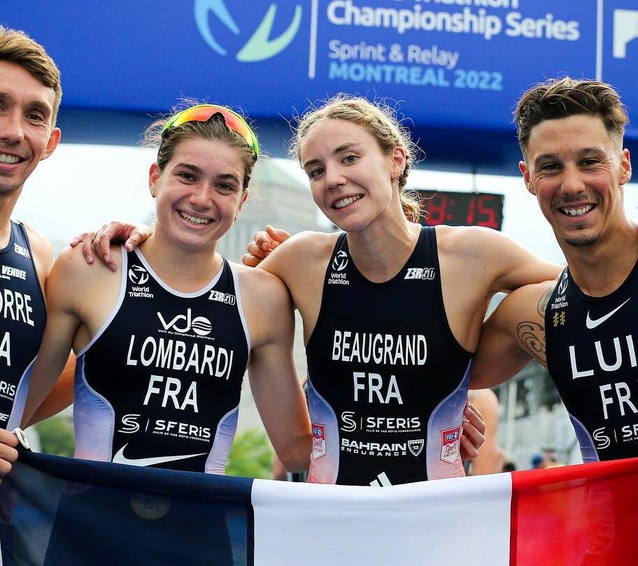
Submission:
<svg viewBox="0 0 638 566">
<path fill-rule="evenodd" d="M 229 4 L 232 5 L 234 13 L 241 14 L 244 18 L 241 24 L 238 24 L 234 19 L 226 6 L 225 0 L 195 0 L 195 22 L 204 41 L 208 43 L 211 49 L 224 57 L 228 55 L 228 52 L 222 46 L 222 43 L 227 45 L 234 42 L 220 43 L 215 36 L 220 38 L 227 36 L 229 33 L 238 36 L 240 38 L 240 47 L 239 50 L 236 50 L 235 57 L 238 61 L 245 63 L 264 61 L 264 59 L 270 59 L 285 50 L 297 35 L 299 24 L 302 22 L 302 7 L 295 5 L 295 13 L 292 14 L 292 20 L 283 24 L 287 27 L 281 33 L 274 34 L 273 28 L 277 18 L 276 4 L 271 3 L 264 15 L 262 13 L 250 13 L 250 10 L 246 10 L 243 2 L 229 2 Z M 245 20 L 246 16 L 250 20 Z M 255 16 L 257 17 L 256 22 L 253 21 Z M 286 17 L 290 18 L 290 16 Z M 281 29 L 282 19 L 283 16 L 277 19 L 276 29 Z M 213 30 L 215 30 L 215 34 L 213 34 Z M 244 38 L 246 37 L 248 39 L 244 43 Z"/>
</svg>

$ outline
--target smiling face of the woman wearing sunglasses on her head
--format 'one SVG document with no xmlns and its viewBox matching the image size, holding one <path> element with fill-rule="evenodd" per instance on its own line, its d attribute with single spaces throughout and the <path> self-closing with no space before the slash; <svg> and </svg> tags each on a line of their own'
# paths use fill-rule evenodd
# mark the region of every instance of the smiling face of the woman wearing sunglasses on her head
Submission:
<svg viewBox="0 0 638 566">
<path fill-rule="evenodd" d="M 246 200 L 243 171 L 236 147 L 204 138 L 181 140 L 162 171 L 157 164 L 150 167 L 149 187 L 157 196 L 155 235 L 179 247 L 214 250 Z"/>
</svg>

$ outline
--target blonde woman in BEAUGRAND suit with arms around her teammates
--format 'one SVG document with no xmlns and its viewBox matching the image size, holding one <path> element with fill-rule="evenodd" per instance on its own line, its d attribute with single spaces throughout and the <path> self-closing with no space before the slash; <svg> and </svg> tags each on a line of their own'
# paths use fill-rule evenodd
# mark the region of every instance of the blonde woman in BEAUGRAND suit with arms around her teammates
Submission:
<svg viewBox="0 0 638 566">
<path fill-rule="evenodd" d="M 558 273 L 487 228 L 420 226 L 405 189 L 415 150 L 388 108 L 341 95 L 311 109 L 292 154 L 343 232 L 278 245 L 285 238 L 271 230 L 249 247 L 248 263 L 264 260 L 304 321 L 309 481 L 385 486 L 463 475 L 462 451 L 480 446 L 484 430 L 466 400 L 490 298 Z M 115 223 L 103 234 L 132 228 Z"/>
</svg>

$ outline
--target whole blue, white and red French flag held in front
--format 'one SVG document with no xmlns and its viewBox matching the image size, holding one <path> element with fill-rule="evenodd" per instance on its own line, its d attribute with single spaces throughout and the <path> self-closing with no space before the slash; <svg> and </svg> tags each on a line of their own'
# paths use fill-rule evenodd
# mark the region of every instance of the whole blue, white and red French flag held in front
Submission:
<svg viewBox="0 0 638 566">
<path fill-rule="evenodd" d="M 637 509 L 638 458 L 375 488 L 25 452 L 0 548 L 3 566 L 630 566 Z"/>
</svg>

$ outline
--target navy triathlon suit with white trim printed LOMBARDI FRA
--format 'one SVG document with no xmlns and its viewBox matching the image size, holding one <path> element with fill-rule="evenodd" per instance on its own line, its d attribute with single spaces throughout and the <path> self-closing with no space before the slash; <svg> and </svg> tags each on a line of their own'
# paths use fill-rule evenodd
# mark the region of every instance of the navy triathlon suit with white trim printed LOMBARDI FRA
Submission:
<svg viewBox="0 0 638 566">
<path fill-rule="evenodd" d="M 76 458 L 224 474 L 250 351 L 236 270 L 180 293 L 122 248 L 113 311 L 76 361 Z M 22 387 L 22 384 L 21 384 Z"/>
</svg>

